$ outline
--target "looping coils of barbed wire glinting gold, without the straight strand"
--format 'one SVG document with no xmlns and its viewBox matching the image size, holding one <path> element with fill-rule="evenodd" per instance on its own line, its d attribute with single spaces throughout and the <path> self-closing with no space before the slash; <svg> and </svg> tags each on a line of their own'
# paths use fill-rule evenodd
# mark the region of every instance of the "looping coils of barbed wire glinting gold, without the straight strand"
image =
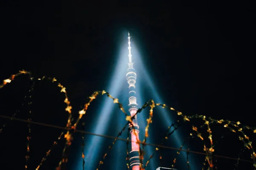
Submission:
<svg viewBox="0 0 256 170">
<path fill-rule="evenodd" d="M 33 77 L 32 77 L 32 74 L 28 71 L 19 71 L 19 73 L 17 74 L 13 74 L 11 77 L 9 77 L 8 79 L 5 79 L 3 80 L 3 83 L 0 85 L 0 89 L 3 88 L 5 85 L 8 85 L 9 83 L 11 83 L 13 80 L 15 80 L 15 77 L 21 75 L 21 74 L 29 74 L 29 78 L 32 80 L 32 82 L 35 80 Z M 149 100 L 148 102 L 146 102 L 142 108 L 138 109 L 137 113 L 131 117 L 131 116 L 128 116 L 127 113 L 125 112 L 125 109 L 123 108 L 122 104 L 119 102 L 119 99 L 117 98 L 114 98 L 113 96 L 111 96 L 108 92 L 106 91 L 95 91 L 88 99 L 88 101 L 84 104 L 84 107 L 82 110 L 79 111 L 79 116 L 78 116 L 78 119 L 76 119 L 75 123 L 72 124 L 72 106 L 70 105 L 70 101 L 68 99 L 68 96 L 67 96 L 67 90 L 66 88 L 61 85 L 59 82 L 57 82 L 57 80 L 55 78 L 49 78 L 49 77 L 42 77 L 42 78 L 39 78 L 39 79 L 36 79 L 36 80 L 39 80 L 39 81 L 44 81 L 44 80 L 48 80 L 48 81 L 51 81 L 52 83 L 57 83 L 57 86 L 60 88 L 60 92 L 64 94 L 64 103 L 66 104 L 66 108 L 65 108 L 65 111 L 67 111 L 68 113 L 68 119 L 67 119 L 67 125 L 66 127 L 64 127 L 63 130 L 66 130 L 66 133 L 64 133 L 64 131 L 61 132 L 61 134 L 58 136 L 58 139 L 53 142 L 53 145 L 52 147 L 47 151 L 46 153 L 46 156 L 41 160 L 41 163 L 38 165 L 38 167 L 36 168 L 36 170 L 39 170 L 39 168 L 41 167 L 41 165 L 44 163 L 44 161 L 46 160 L 46 158 L 49 156 L 51 150 L 53 147 L 55 147 L 59 142 L 60 142 L 60 139 L 62 139 L 62 137 L 64 137 L 65 139 L 65 147 L 62 151 L 62 158 L 61 158 L 61 161 L 59 162 L 58 164 L 58 167 L 56 168 L 57 170 L 61 170 L 61 167 L 64 166 L 63 164 L 67 163 L 68 159 L 67 159 L 67 150 L 69 149 L 70 145 L 72 144 L 72 141 L 73 141 L 73 133 L 74 132 L 79 132 L 79 130 L 76 129 L 77 125 L 79 125 L 79 122 L 81 120 L 81 118 L 87 113 L 87 109 L 88 107 L 90 106 L 90 103 L 93 102 L 93 100 L 95 100 L 97 98 L 98 95 L 105 95 L 111 99 L 113 99 L 113 103 L 114 104 L 117 104 L 119 106 L 119 109 L 122 111 L 122 113 L 124 113 L 125 115 L 125 120 L 127 121 L 127 123 L 124 125 L 124 127 L 122 128 L 122 130 L 118 133 L 118 135 L 116 136 L 116 138 L 113 140 L 112 144 L 108 147 L 108 151 L 107 153 L 105 153 L 102 157 L 102 160 L 99 161 L 99 165 L 97 167 L 97 170 L 100 169 L 101 165 L 104 163 L 104 160 L 106 159 L 106 157 L 108 156 L 108 152 L 113 148 L 113 145 L 115 144 L 116 140 L 119 139 L 119 136 L 122 135 L 122 132 L 125 130 L 125 128 L 130 124 L 131 125 L 131 130 L 134 130 L 134 133 L 136 133 L 136 130 L 134 128 L 134 126 L 132 125 L 132 119 L 134 119 L 134 116 L 137 115 L 138 113 L 141 113 L 141 111 L 143 111 L 143 109 L 149 107 L 150 108 L 150 111 L 149 111 L 149 114 L 148 114 L 148 118 L 145 120 L 147 122 L 147 125 L 145 127 L 145 136 L 144 136 L 144 139 L 143 139 L 143 142 L 141 142 L 139 139 L 137 139 L 137 143 L 140 143 L 142 144 L 142 148 L 140 148 L 139 150 L 139 156 L 140 156 L 140 161 L 142 162 L 143 159 L 144 159 L 144 155 L 145 155 L 145 151 L 144 151 L 144 146 L 147 144 L 146 143 L 146 139 L 148 138 L 149 136 L 149 126 L 151 123 L 153 123 L 153 111 L 154 111 L 154 108 L 157 107 L 157 106 L 160 106 L 161 108 L 163 109 L 166 109 L 166 108 L 169 108 L 170 111 L 175 111 L 176 114 L 180 117 L 179 120 L 177 120 L 177 122 L 180 122 L 180 121 L 183 121 L 183 122 L 192 122 L 194 119 L 201 119 L 203 120 L 203 125 L 201 125 L 201 127 L 204 127 L 206 126 L 206 132 L 208 134 L 208 136 L 203 136 L 202 135 L 202 132 L 199 132 L 201 130 L 201 127 L 196 127 L 194 125 L 191 126 L 191 130 L 194 132 L 194 133 L 189 133 L 189 137 L 188 137 L 188 140 L 191 140 L 191 139 L 194 139 L 194 136 L 197 137 L 198 139 L 201 139 L 201 141 L 203 142 L 203 150 L 204 150 L 204 155 L 205 155 L 205 161 L 207 162 L 207 164 L 204 163 L 204 165 L 208 165 L 208 169 L 210 170 L 213 170 L 213 168 L 215 168 L 216 166 L 213 164 L 213 157 L 216 156 L 216 155 L 213 155 L 213 153 L 215 152 L 215 145 L 214 145 L 214 136 L 212 136 L 212 128 L 210 127 L 211 125 L 213 124 L 216 124 L 216 125 L 220 125 L 222 126 L 223 128 L 227 128 L 229 129 L 231 132 L 233 133 L 236 133 L 237 134 L 237 137 L 240 141 L 242 141 L 244 143 L 244 146 L 247 150 L 250 150 L 250 158 L 252 159 L 252 162 L 253 162 L 253 166 L 256 167 L 256 153 L 253 149 L 253 146 L 252 146 L 252 141 L 250 140 L 250 137 L 244 132 L 244 130 L 251 130 L 253 133 L 256 133 L 256 128 L 255 127 L 250 127 L 250 126 L 245 126 L 245 125 L 242 125 L 241 122 L 233 122 L 233 121 L 229 121 L 229 120 L 215 120 L 215 119 L 212 119 L 212 118 L 208 118 L 204 115 L 193 115 L 193 116 L 186 116 L 184 115 L 182 112 L 180 111 L 176 111 L 174 108 L 172 107 L 168 107 L 166 106 L 166 104 L 160 104 L 160 103 L 155 103 L 154 100 Z M 31 97 L 32 97 L 32 90 L 34 89 L 34 82 L 32 83 L 32 86 L 29 90 L 29 100 L 31 100 Z M 29 107 L 31 107 L 32 105 L 32 102 L 29 101 Z M 29 109 L 29 115 L 31 115 L 31 110 Z M 14 115 L 16 115 L 17 112 L 15 112 Z M 3 116 L 2 116 L 3 117 Z M 15 118 L 12 118 L 12 119 L 15 119 Z M 16 119 L 17 120 L 17 119 Z M 176 123 L 177 123 L 176 122 Z M 28 159 L 29 159 L 29 153 L 30 153 L 30 139 L 31 139 L 31 136 L 30 136 L 30 123 L 33 123 L 32 122 L 32 119 L 31 119 L 31 116 L 29 116 L 29 119 L 27 120 L 27 123 L 28 123 L 28 130 L 29 130 L 29 135 L 27 136 L 27 153 L 26 153 L 26 165 L 25 165 L 25 168 L 27 169 L 28 167 Z M 175 123 L 175 124 L 176 124 Z M 171 126 L 168 127 L 168 129 L 166 130 L 166 135 L 163 137 L 162 139 L 162 143 L 160 145 L 155 145 L 157 147 L 155 147 L 155 150 L 154 150 L 154 153 L 152 153 L 150 156 L 149 156 L 149 159 L 147 161 L 145 161 L 145 166 L 143 167 L 141 165 L 140 169 L 141 170 L 144 170 L 147 166 L 148 166 L 148 163 L 151 161 L 151 159 L 154 157 L 155 153 L 157 151 L 159 151 L 160 148 L 167 148 L 166 146 L 163 145 L 163 141 L 164 140 L 168 140 L 168 137 L 175 132 L 175 130 L 178 129 L 178 125 L 175 127 L 174 130 L 172 130 L 172 132 L 169 132 L 169 130 L 171 129 L 171 127 L 174 127 L 175 124 L 172 124 Z M 83 123 L 84 125 L 84 123 Z M 0 132 L 3 130 L 4 127 L 6 127 L 7 124 L 4 124 L 3 127 L 0 128 Z M 105 136 L 106 137 L 106 136 Z M 206 144 L 205 140 L 209 140 L 209 145 Z M 82 137 L 82 141 L 84 142 L 84 137 Z M 129 159 L 129 155 L 128 155 L 128 144 L 129 144 L 129 136 L 127 137 L 126 140 L 127 143 L 127 156 L 126 156 L 126 160 Z M 185 142 L 183 142 L 184 144 Z M 180 151 L 186 151 L 186 163 L 187 163 L 187 166 L 189 168 L 189 153 L 192 152 L 192 153 L 197 153 L 197 152 L 194 152 L 192 150 L 189 150 L 189 148 L 187 150 L 183 150 L 183 144 L 180 146 L 180 148 L 178 149 L 177 151 L 177 154 L 180 153 Z M 82 146 L 83 147 L 83 146 Z M 172 148 L 174 149 L 174 148 Z M 203 153 L 198 153 L 198 154 L 203 154 Z M 84 152 L 82 151 L 82 156 L 83 158 L 83 161 L 84 161 Z M 221 156 L 220 156 L 221 157 Z M 222 157 L 225 157 L 225 156 L 222 156 Z M 226 157 L 227 158 L 227 157 Z M 160 154 L 160 157 L 159 159 L 162 159 L 162 154 Z M 230 158 L 231 159 L 231 158 Z M 237 159 L 237 161 L 241 160 L 240 157 L 239 159 Z M 175 163 L 177 162 L 177 158 L 175 158 L 173 160 L 173 165 L 172 167 L 175 166 Z M 238 163 L 237 163 L 238 164 Z M 127 163 L 127 168 L 129 168 L 129 164 Z M 84 169 L 84 163 L 83 163 L 83 169 Z"/>
</svg>

